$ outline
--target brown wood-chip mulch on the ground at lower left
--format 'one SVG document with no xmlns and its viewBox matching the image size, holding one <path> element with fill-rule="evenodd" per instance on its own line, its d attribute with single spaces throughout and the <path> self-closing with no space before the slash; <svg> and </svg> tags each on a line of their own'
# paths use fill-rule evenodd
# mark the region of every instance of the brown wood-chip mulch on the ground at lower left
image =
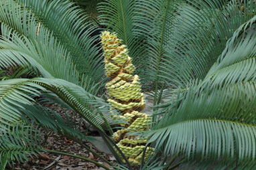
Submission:
<svg viewBox="0 0 256 170">
<path fill-rule="evenodd" d="M 67 110 L 64 110 L 60 108 L 57 104 L 52 105 L 46 105 L 49 108 L 52 108 L 52 110 L 57 111 L 62 115 L 62 117 L 65 117 L 65 112 Z M 70 110 L 68 110 L 70 112 Z M 80 121 L 80 116 L 76 114 L 76 121 Z M 85 131 L 86 127 L 83 125 L 81 128 L 81 131 Z M 92 135 L 95 136 L 97 133 L 88 131 L 86 135 Z M 42 137 L 44 138 L 44 137 Z M 90 149 L 96 151 L 101 156 L 105 157 L 108 161 L 111 163 L 116 163 L 115 158 L 113 155 L 107 155 L 106 153 L 101 153 L 97 151 L 97 148 L 94 147 L 90 143 L 84 143 L 87 147 L 90 147 Z M 86 157 L 88 159 L 92 159 L 93 161 L 97 161 L 98 163 L 101 163 L 105 165 L 106 167 L 110 166 L 101 161 L 99 157 L 92 155 L 92 153 L 89 153 L 86 149 L 82 148 L 78 143 L 75 143 L 74 141 L 68 140 L 64 137 L 61 137 L 60 135 L 50 135 L 47 139 L 46 147 L 45 149 L 48 150 L 54 150 L 54 151 L 62 151 L 66 153 L 72 153 L 74 155 L 79 155 L 82 157 Z M 52 153 L 43 153 L 43 155 L 38 155 L 38 157 L 28 157 L 29 161 L 26 163 L 15 163 L 13 167 L 7 167 L 7 170 L 100 170 L 103 169 L 102 167 L 97 167 L 94 165 L 94 163 L 90 163 L 88 161 L 84 161 L 82 159 L 77 159 L 74 157 L 69 157 L 65 155 L 56 155 Z"/>
</svg>

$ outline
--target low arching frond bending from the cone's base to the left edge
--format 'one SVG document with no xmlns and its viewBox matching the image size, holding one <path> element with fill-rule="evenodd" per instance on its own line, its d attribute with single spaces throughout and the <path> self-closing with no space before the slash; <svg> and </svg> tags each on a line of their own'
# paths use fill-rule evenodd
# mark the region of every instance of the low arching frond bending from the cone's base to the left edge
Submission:
<svg viewBox="0 0 256 170">
<path fill-rule="evenodd" d="M 20 86 L 20 87 L 19 87 Z M 8 88 L 7 88 L 8 87 Z M 1 104 L 1 108 L 3 109 L 2 117 L 5 116 L 8 118 L 8 112 L 5 110 L 9 109 L 9 116 L 17 115 L 19 118 L 20 114 L 17 108 L 23 108 L 22 104 L 33 104 L 33 98 L 29 95 L 39 95 L 41 90 L 50 90 L 58 97 L 60 97 L 66 104 L 68 104 L 74 111 L 80 114 L 86 121 L 90 122 L 92 126 L 103 131 L 103 126 L 101 124 L 105 124 L 109 126 L 109 122 L 107 122 L 107 115 L 103 116 L 102 112 L 109 111 L 111 107 L 104 102 L 101 98 L 97 98 L 92 94 L 86 92 L 82 87 L 72 84 L 70 82 L 66 82 L 64 80 L 56 80 L 56 79 L 45 79 L 45 78 L 34 78 L 31 80 L 28 79 L 13 79 L 13 80 L 5 80 L 1 81 L 0 89 L 6 88 L 7 90 L 3 90 L 1 98 L 3 100 L 3 104 Z M 23 91 L 27 93 L 21 93 Z M 11 93 L 7 95 L 8 93 Z M 7 102 L 5 102 L 7 101 Z M 21 104 L 20 104 L 21 103 Z M 16 108 L 13 108 L 15 106 Z M 99 107 L 105 106 L 105 107 Z M 97 110 L 97 112 L 94 112 Z M 113 110 L 115 112 L 115 110 Z M 6 120 L 7 120 L 6 118 Z M 2 122 L 3 119 L 1 119 Z"/>
</svg>

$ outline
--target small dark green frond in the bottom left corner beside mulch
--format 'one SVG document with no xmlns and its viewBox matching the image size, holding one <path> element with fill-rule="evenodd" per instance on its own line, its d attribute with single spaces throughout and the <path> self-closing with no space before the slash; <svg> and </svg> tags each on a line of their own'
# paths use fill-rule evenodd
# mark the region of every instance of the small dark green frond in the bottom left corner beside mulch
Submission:
<svg viewBox="0 0 256 170">
<path fill-rule="evenodd" d="M 25 124 L 9 126 L 9 131 L 0 131 L 0 165 L 9 161 L 25 161 L 28 156 L 40 154 L 44 151 L 40 144 L 40 129 Z M 3 157 L 2 157 L 3 155 Z"/>
</svg>

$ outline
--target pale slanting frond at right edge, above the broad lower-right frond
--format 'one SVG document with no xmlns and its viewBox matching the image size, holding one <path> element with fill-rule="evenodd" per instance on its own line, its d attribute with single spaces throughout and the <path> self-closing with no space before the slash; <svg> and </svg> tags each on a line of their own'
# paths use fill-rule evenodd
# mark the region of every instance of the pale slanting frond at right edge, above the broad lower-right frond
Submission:
<svg viewBox="0 0 256 170">
<path fill-rule="evenodd" d="M 255 80 L 255 23 L 256 17 L 253 17 L 235 31 L 204 82 L 222 86 Z"/>
</svg>

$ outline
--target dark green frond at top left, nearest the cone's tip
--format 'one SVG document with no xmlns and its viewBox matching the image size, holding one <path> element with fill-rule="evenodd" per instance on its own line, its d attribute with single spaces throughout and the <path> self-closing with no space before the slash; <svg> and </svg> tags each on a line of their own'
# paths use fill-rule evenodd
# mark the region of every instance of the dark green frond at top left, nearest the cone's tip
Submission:
<svg viewBox="0 0 256 170">
<path fill-rule="evenodd" d="M 100 48 L 97 46 L 97 37 L 92 36 L 99 30 L 92 26 L 87 19 L 88 15 L 83 13 L 82 9 L 70 1 L 18 0 L 18 2 L 21 7 L 31 9 L 38 24 L 50 29 L 54 37 L 59 39 L 62 46 L 70 52 L 80 74 L 90 74 L 94 80 L 101 78 L 102 73 L 97 72 L 97 68 L 103 66 L 99 55 Z M 43 33 L 40 31 L 40 25 L 37 32 Z M 92 70 L 94 74 L 91 74 Z"/>
</svg>

